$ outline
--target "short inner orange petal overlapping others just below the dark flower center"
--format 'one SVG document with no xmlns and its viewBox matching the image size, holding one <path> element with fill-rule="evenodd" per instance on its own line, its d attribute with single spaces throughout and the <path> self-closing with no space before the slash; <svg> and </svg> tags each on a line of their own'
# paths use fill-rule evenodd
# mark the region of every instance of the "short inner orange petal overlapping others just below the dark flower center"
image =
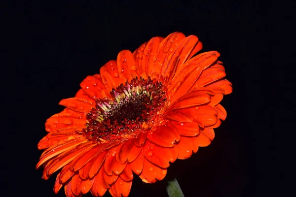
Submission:
<svg viewBox="0 0 296 197">
<path fill-rule="evenodd" d="M 138 147 L 132 140 L 128 140 L 122 146 L 118 147 L 116 160 L 120 164 L 125 164 L 127 161 L 130 163 L 138 157 L 141 150 L 141 146 Z"/>
</svg>

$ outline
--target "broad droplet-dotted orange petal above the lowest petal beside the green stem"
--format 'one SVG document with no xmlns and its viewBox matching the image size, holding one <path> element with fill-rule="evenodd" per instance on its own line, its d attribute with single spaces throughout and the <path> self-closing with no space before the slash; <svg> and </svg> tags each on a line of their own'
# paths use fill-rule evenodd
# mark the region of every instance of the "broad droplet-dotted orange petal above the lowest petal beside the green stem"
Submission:
<svg viewBox="0 0 296 197">
<path fill-rule="evenodd" d="M 143 147 L 143 152 L 149 162 L 163 168 L 169 167 L 170 163 L 175 162 L 178 157 L 178 149 L 176 146 L 164 148 L 148 140 Z"/>
</svg>

